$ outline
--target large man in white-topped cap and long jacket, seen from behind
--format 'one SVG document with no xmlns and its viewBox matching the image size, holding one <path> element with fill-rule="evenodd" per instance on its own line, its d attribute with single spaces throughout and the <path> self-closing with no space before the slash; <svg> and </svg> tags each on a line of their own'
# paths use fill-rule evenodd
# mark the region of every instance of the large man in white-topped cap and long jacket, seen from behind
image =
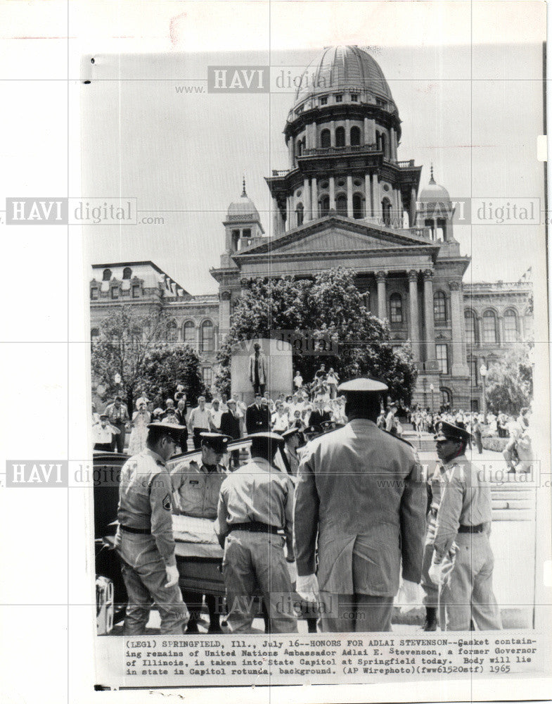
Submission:
<svg viewBox="0 0 552 704">
<path fill-rule="evenodd" d="M 376 426 L 387 386 L 339 390 L 349 422 L 307 444 L 297 476 L 297 593 L 319 589 L 322 631 L 390 631 L 401 565 L 407 600 L 421 579 L 425 482 L 413 447 Z"/>
</svg>

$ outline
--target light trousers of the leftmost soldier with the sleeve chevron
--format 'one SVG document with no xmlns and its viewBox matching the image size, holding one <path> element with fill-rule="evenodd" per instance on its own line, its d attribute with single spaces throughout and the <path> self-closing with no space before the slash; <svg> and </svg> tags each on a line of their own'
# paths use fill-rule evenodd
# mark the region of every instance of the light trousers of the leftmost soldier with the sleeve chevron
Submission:
<svg viewBox="0 0 552 704">
<path fill-rule="evenodd" d="M 117 533 L 117 552 L 122 560 L 121 571 L 127 587 L 129 603 L 124 617 L 124 635 L 146 633 L 152 600 L 157 606 L 162 634 L 181 635 L 188 623 L 188 609 L 178 584 L 167 587 L 167 572 L 155 538 L 150 535 Z"/>
</svg>

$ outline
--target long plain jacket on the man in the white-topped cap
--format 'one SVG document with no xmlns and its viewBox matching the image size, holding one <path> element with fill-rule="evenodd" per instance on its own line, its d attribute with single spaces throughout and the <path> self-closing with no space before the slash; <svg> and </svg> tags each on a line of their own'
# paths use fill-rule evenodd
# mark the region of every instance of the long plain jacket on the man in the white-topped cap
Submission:
<svg viewBox="0 0 552 704">
<path fill-rule="evenodd" d="M 300 575 L 315 571 L 321 591 L 394 596 L 399 570 L 421 579 L 427 494 L 412 446 L 370 420 L 356 419 L 307 444 L 295 487 L 295 556 Z M 370 564 L 354 584 L 357 537 Z"/>
</svg>

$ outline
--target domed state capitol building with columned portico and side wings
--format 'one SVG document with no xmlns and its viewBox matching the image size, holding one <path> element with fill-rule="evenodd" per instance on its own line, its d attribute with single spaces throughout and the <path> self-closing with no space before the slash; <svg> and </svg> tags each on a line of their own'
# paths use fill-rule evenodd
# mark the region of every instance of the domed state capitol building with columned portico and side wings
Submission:
<svg viewBox="0 0 552 704">
<path fill-rule="evenodd" d="M 399 161 L 399 111 L 366 51 L 328 47 L 304 77 L 285 122 L 288 168 L 266 177 L 271 236 L 244 182 L 222 223 L 219 266 L 210 270 L 218 295 L 188 294 L 151 261 L 94 265 L 92 337 L 113 306 L 135 306 L 138 315 L 161 306 L 171 339 L 198 350 L 210 385 L 242 277 L 350 268 L 394 343 L 412 344 L 419 369 L 413 403 L 429 406 L 433 387 L 436 406 L 479 410 L 482 363 L 492 365 L 532 334 L 530 277 L 463 282 L 470 257 L 454 239 L 454 204 L 433 170 L 420 189 L 422 167 Z"/>
</svg>

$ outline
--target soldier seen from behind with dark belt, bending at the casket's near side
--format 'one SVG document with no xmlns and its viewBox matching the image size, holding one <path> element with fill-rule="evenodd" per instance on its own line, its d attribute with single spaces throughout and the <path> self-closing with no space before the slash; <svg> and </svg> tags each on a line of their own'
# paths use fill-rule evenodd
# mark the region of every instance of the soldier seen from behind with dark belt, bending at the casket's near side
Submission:
<svg viewBox="0 0 552 704">
<path fill-rule="evenodd" d="M 290 608 L 293 563 L 293 483 L 274 466 L 283 443 L 272 432 L 254 433 L 251 460 L 229 474 L 219 497 L 217 534 L 224 547 L 222 570 L 226 586 L 227 623 L 232 633 L 250 633 L 254 597 L 262 593 L 269 630 L 296 633 Z M 284 553 L 287 547 L 287 557 Z"/>
</svg>

